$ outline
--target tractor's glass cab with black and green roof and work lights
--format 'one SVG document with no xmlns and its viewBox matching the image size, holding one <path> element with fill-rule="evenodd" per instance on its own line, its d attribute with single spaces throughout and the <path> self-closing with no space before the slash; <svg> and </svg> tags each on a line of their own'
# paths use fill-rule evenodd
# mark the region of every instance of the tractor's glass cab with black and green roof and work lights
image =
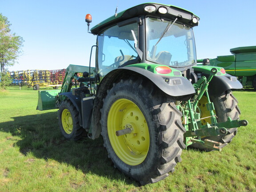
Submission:
<svg viewBox="0 0 256 192">
<path fill-rule="evenodd" d="M 185 74 L 196 65 L 192 27 L 198 21 L 191 12 L 163 4 L 141 4 L 104 20 L 91 29 L 97 35 L 97 72 L 105 76 L 117 68 L 145 63 L 167 65 Z"/>
</svg>

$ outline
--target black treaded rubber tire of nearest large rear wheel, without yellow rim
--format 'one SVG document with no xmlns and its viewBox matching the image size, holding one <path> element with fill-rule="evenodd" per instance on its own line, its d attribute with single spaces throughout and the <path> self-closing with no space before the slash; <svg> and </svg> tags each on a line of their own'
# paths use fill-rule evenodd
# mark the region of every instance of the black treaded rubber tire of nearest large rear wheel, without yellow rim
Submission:
<svg viewBox="0 0 256 192">
<path fill-rule="evenodd" d="M 151 162 L 150 165 L 138 165 L 130 167 L 124 164 L 122 160 L 116 159 L 118 157 L 110 155 L 114 165 L 125 175 L 131 177 L 140 182 L 140 184 L 155 183 L 163 180 L 168 176 L 168 172 L 173 172 L 174 167 L 178 162 L 181 161 L 180 155 L 182 149 L 185 148 L 183 143 L 183 135 L 186 132 L 185 128 L 181 123 L 182 113 L 176 108 L 173 103 L 174 99 L 169 98 L 163 92 L 159 90 L 152 83 L 139 79 L 124 79 L 116 83 L 115 86 L 109 90 L 108 95 L 105 97 L 105 105 L 108 105 L 110 98 L 115 95 L 118 89 L 124 90 L 131 87 L 132 91 L 136 95 L 143 98 L 143 102 L 149 104 L 149 113 L 152 116 L 153 122 L 155 122 L 155 130 L 159 130 L 156 145 L 158 145 L 157 156 L 147 157 L 148 159 L 158 159 L 155 162 Z M 112 94 L 112 95 L 111 95 Z M 132 93 L 131 93 L 132 94 Z M 107 130 L 106 130 L 106 113 L 104 105 L 102 108 L 102 135 L 104 138 L 105 148 L 108 154 L 112 153 L 112 148 L 108 146 Z M 158 123 L 156 123 L 158 122 Z M 153 142 L 153 141 L 152 141 Z M 153 154 L 153 153 L 152 153 Z M 146 161 L 146 160 L 144 160 Z M 147 162 L 147 161 L 146 161 Z"/>
</svg>

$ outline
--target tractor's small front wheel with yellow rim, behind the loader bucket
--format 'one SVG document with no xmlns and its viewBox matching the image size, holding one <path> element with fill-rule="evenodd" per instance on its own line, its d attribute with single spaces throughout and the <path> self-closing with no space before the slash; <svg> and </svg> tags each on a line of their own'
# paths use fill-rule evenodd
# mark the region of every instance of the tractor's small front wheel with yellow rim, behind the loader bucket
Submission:
<svg viewBox="0 0 256 192">
<path fill-rule="evenodd" d="M 58 111 L 59 126 L 62 135 L 68 140 L 79 140 L 84 133 L 84 128 L 79 125 L 79 112 L 70 100 L 64 100 Z"/>
</svg>

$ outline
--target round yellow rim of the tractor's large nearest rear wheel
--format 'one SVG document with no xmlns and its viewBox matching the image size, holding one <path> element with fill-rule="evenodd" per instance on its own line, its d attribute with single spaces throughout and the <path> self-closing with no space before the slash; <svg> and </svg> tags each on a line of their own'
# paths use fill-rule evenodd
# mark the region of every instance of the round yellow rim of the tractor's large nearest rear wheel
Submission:
<svg viewBox="0 0 256 192">
<path fill-rule="evenodd" d="M 116 136 L 116 131 L 131 132 Z M 108 112 L 108 137 L 116 155 L 126 164 L 141 164 L 149 149 L 148 124 L 140 108 L 128 99 L 116 100 Z"/>
</svg>

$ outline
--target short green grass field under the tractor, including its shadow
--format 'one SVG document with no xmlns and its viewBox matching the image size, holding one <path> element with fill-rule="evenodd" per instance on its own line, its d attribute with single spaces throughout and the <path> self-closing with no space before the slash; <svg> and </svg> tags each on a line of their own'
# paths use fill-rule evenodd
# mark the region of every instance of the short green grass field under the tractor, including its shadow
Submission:
<svg viewBox="0 0 256 192">
<path fill-rule="evenodd" d="M 37 111 L 37 91 L 0 92 L 0 192 L 253 192 L 256 191 L 256 92 L 236 91 L 249 121 L 221 152 L 184 150 L 176 171 L 140 186 L 108 159 L 102 138 L 64 140 L 57 110 Z"/>
</svg>

